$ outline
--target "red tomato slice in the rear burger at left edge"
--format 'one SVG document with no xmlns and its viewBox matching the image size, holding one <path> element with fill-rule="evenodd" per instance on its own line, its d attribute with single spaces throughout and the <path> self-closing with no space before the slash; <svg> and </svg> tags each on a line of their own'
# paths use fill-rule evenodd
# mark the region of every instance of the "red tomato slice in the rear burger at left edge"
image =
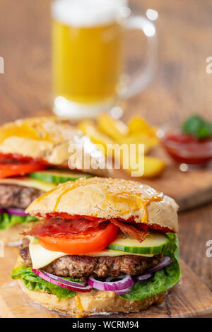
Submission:
<svg viewBox="0 0 212 332">
<path fill-rule="evenodd" d="M 47 167 L 40 162 L 0 163 L 0 179 L 25 175 L 35 171 L 45 170 Z"/>
</svg>

